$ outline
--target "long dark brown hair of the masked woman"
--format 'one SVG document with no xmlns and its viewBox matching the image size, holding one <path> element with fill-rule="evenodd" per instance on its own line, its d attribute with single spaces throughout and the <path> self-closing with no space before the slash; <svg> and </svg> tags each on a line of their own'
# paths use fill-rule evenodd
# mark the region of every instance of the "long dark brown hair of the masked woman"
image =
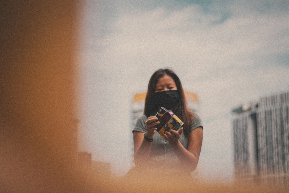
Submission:
<svg viewBox="0 0 289 193">
<path fill-rule="evenodd" d="M 156 106 L 155 102 L 153 101 L 153 93 L 155 93 L 155 86 L 158 82 L 159 78 L 163 77 L 164 75 L 168 75 L 173 78 L 176 83 L 178 94 L 179 94 L 179 102 L 177 105 L 172 109 L 172 111 L 179 117 L 183 122 L 184 134 L 188 136 L 190 126 L 192 125 L 192 120 L 194 118 L 194 114 L 188 109 L 187 101 L 185 98 L 184 90 L 181 85 L 181 81 L 179 77 L 175 74 L 174 71 L 171 69 L 158 69 L 153 73 L 149 80 L 149 85 L 147 88 L 147 95 L 145 98 L 144 103 L 144 114 L 149 116 L 154 116 L 153 113 L 158 111 L 158 106 Z"/>
</svg>

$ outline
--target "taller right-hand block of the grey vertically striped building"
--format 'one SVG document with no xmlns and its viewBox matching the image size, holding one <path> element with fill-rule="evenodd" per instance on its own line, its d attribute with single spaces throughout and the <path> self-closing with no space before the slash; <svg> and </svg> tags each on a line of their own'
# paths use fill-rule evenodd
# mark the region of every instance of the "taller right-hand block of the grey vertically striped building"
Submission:
<svg viewBox="0 0 289 193">
<path fill-rule="evenodd" d="M 289 93 L 260 100 L 257 109 L 260 172 L 289 172 Z"/>
</svg>

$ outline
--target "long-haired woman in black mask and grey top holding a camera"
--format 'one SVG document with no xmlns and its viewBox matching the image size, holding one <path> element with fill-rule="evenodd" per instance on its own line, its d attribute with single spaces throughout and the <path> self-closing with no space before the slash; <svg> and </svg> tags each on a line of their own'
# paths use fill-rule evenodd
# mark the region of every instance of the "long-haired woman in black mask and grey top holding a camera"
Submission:
<svg viewBox="0 0 289 193">
<path fill-rule="evenodd" d="M 163 106 L 179 117 L 184 125 L 179 131 L 166 132 L 163 139 L 155 126 L 155 117 Z M 200 118 L 188 107 L 181 82 L 170 69 L 159 69 L 149 80 L 144 115 L 133 129 L 134 162 L 142 172 L 154 175 L 181 174 L 190 177 L 199 161 L 203 140 Z"/>
</svg>

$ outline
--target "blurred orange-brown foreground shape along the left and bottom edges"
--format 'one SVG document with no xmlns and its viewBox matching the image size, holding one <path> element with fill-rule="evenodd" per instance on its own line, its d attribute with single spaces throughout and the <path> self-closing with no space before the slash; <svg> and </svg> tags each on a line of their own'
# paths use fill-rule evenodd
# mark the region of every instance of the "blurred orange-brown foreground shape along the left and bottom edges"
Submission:
<svg viewBox="0 0 289 193">
<path fill-rule="evenodd" d="M 285 192 L 85 170 L 77 157 L 77 1 L 1 2 L 0 192 Z M 138 181 L 136 180 L 138 178 Z"/>
</svg>

